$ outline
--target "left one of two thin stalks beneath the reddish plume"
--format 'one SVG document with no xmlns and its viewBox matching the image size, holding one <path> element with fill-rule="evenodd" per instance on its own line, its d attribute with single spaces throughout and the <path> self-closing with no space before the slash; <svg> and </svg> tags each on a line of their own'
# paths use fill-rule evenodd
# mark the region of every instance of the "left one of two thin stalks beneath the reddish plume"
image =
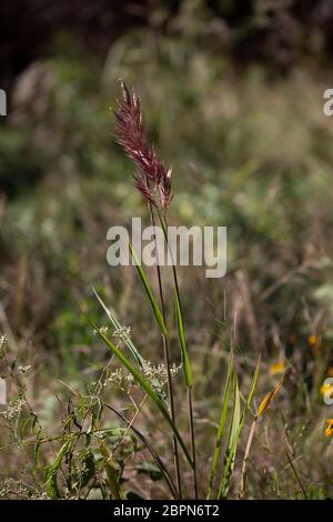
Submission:
<svg viewBox="0 0 333 522">
<path fill-rule="evenodd" d="M 152 205 L 151 205 L 150 202 L 148 202 L 148 208 L 149 208 L 149 213 L 150 213 L 151 225 L 155 230 L 155 220 L 154 220 L 153 209 L 152 209 Z M 165 324 L 164 294 L 163 294 L 161 269 L 160 269 L 159 258 L 158 258 L 159 253 L 158 253 L 158 242 L 157 242 L 157 235 L 155 234 L 154 234 L 154 243 L 155 243 L 155 252 L 157 252 L 157 273 L 158 273 L 158 282 L 159 282 L 161 311 L 162 311 L 163 322 Z M 170 402 L 170 414 L 171 414 L 172 422 L 175 424 L 173 387 L 172 387 L 172 378 L 171 378 L 171 370 L 170 370 L 170 352 L 169 352 L 168 337 L 165 334 L 162 334 L 162 341 L 163 341 L 164 363 L 165 363 L 167 374 L 168 374 L 168 396 L 169 396 L 169 402 Z M 178 488 L 178 492 L 179 492 L 179 498 L 182 499 L 180 463 L 179 463 L 179 453 L 178 453 L 178 442 L 176 442 L 175 435 L 173 435 L 173 438 L 172 438 L 172 446 L 173 446 L 173 459 L 174 459 L 176 488 Z"/>
</svg>

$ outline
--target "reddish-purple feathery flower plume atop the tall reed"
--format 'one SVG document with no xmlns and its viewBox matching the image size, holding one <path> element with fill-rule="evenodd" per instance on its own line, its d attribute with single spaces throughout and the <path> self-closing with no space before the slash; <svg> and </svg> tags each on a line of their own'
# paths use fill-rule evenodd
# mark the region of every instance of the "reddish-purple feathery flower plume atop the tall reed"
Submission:
<svg viewBox="0 0 333 522">
<path fill-rule="evenodd" d="M 121 82 L 121 88 L 123 97 L 114 111 L 115 139 L 138 168 L 134 175 L 137 189 L 155 207 L 158 194 L 161 208 L 167 211 L 172 199 L 172 171 L 159 160 L 154 148 L 148 141 L 140 99 L 129 91 L 124 82 Z"/>
</svg>

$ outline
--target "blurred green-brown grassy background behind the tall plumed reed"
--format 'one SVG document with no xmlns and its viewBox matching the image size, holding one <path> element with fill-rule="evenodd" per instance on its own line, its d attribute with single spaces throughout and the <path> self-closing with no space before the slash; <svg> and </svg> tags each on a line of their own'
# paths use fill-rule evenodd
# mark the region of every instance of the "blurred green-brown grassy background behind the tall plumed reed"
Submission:
<svg viewBox="0 0 333 522">
<path fill-rule="evenodd" d="M 65 395 L 57 378 L 80 387 L 107 362 L 80 313 L 89 308 L 105 323 L 91 282 L 145 357 L 162 360 L 135 274 L 105 260 L 109 227 L 147 219 L 132 165 L 112 138 L 109 107 L 122 78 L 140 93 L 150 134 L 173 168 L 172 221 L 228 227 L 223 280 L 181 271 L 200 459 L 212 453 L 205 441 L 211 435 L 213 444 L 236 314 L 244 385 L 260 350 L 259 393 L 275 382 L 272 364 L 287 358 L 292 368 L 259 428 L 249 494 L 301 496 L 283 432 L 309 496 L 332 496 L 324 435 L 332 410 L 320 393 L 333 367 L 333 124 L 322 110 L 332 71 L 305 52 L 283 73 L 255 54 L 240 67 L 234 53 L 215 48 L 215 19 L 194 3 L 184 2 L 168 30 L 150 23 L 123 31 L 103 60 L 75 34 L 57 33 L 52 52 L 16 76 L 0 122 L 1 331 L 12 357 L 32 365 L 28 390 L 50 430 L 56 394 Z M 172 294 L 167 299 L 172 303 Z M 178 361 L 175 343 L 172 350 Z M 148 430 L 152 422 L 142 420 Z M 6 473 L 18 471 L 11 450 L 0 462 Z"/>
</svg>

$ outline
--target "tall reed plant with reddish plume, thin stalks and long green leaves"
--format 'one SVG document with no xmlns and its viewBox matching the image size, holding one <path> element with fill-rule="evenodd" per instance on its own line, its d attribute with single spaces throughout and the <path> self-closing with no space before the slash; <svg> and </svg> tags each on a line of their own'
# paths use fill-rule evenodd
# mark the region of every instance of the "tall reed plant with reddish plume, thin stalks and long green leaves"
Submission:
<svg viewBox="0 0 333 522">
<path fill-rule="evenodd" d="M 168 215 L 170 205 L 173 199 L 172 194 L 172 170 L 162 162 L 154 147 L 149 142 L 147 129 L 143 121 L 141 101 L 135 92 L 128 89 L 124 82 L 121 81 L 122 99 L 118 102 L 118 108 L 113 111 L 115 117 L 115 140 L 123 148 L 127 155 L 132 160 L 135 167 L 133 173 L 134 187 L 139 190 L 148 207 L 148 214 L 151 225 L 154 228 L 155 223 L 162 228 L 164 232 L 164 240 L 169 253 L 172 258 L 171 247 L 168 241 Z M 162 349 L 164 352 L 164 361 L 168 373 L 168 399 L 159 396 L 151 384 L 142 375 L 142 364 L 144 365 L 143 353 L 139 354 L 138 349 L 133 350 L 133 342 L 128 339 L 127 344 L 130 349 L 135 361 L 131 362 L 128 355 L 121 352 L 114 343 L 107 338 L 107 335 L 94 324 L 90 319 L 89 321 L 95 329 L 100 339 L 107 344 L 111 352 L 119 359 L 119 361 L 127 368 L 133 375 L 134 380 L 147 392 L 148 396 L 160 410 L 164 420 L 170 426 L 170 435 L 173 442 L 174 455 L 174 476 L 175 486 L 173 488 L 178 499 L 183 496 L 183 474 L 181 470 L 181 460 L 179 452 L 181 451 L 185 458 L 186 465 L 192 473 L 192 496 L 206 496 L 208 499 L 226 499 L 230 491 L 231 479 L 235 463 L 236 450 L 240 441 L 240 435 L 244 425 L 246 413 L 250 411 L 250 403 L 254 393 L 256 381 L 260 370 L 260 358 L 252 378 L 250 392 L 246 398 L 240 392 L 239 377 L 236 364 L 234 360 L 233 350 L 231 349 L 230 359 L 228 363 L 226 380 L 224 393 L 222 395 L 221 415 L 219 419 L 219 428 L 216 432 L 216 441 L 213 452 L 212 470 L 208 481 L 206 491 L 199 491 L 198 489 L 198 465 L 200 461 L 195 454 L 195 425 L 194 425 L 194 403 L 193 403 L 193 388 L 195 375 L 191 369 L 191 349 L 189 349 L 185 325 L 182 310 L 182 297 L 179 285 L 179 278 L 176 271 L 175 260 L 172 260 L 172 279 L 173 279 L 173 293 L 174 293 L 174 314 L 176 323 L 178 340 L 180 347 L 180 354 L 182 361 L 183 383 L 188 395 L 188 414 L 189 414 L 189 434 L 185 438 L 180 432 L 178 419 L 175 415 L 175 396 L 173 383 L 171 378 L 171 353 L 170 353 L 170 325 L 167 324 L 165 313 L 165 298 L 164 284 L 159 262 L 155 268 L 155 277 L 158 281 L 158 295 L 154 294 L 152 284 L 148 275 L 140 264 L 135 254 L 133 245 L 130 244 L 130 251 L 134 261 L 139 279 L 142 283 L 144 294 L 148 303 L 151 307 L 152 313 L 155 319 L 157 327 L 162 338 Z M 158 252 L 157 238 L 155 251 Z M 102 303 L 100 295 L 99 301 Z M 111 312 L 104 303 L 102 303 L 109 318 L 112 319 Z M 141 368 L 140 368 L 141 365 Z M 182 392 L 180 393 L 182 396 Z M 250 438 L 252 438 L 252 432 Z M 190 448 L 188 443 L 190 439 Z M 251 442 L 250 442 L 251 444 Z M 245 454 L 245 458 L 249 455 Z M 244 470 L 243 470 L 244 471 Z M 169 474 L 170 476 L 170 474 Z M 244 473 L 242 475 L 243 480 Z"/>
</svg>

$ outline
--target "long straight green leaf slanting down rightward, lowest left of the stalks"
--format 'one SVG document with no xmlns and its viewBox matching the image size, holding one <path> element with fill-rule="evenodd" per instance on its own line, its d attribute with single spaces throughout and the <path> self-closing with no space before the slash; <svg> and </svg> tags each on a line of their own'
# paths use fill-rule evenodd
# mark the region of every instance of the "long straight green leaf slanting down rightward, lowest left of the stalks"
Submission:
<svg viewBox="0 0 333 522">
<path fill-rule="evenodd" d="M 180 443 L 180 446 L 182 448 L 189 464 L 193 469 L 193 462 L 190 456 L 190 453 L 185 446 L 185 443 L 180 435 L 174 422 L 172 421 L 168 409 L 164 404 L 164 402 L 161 400 L 161 398 L 157 394 L 157 392 L 151 388 L 150 383 L 144 379 L 144 377 L 134 368 L 131 362 L 128 360 L 128 358 L 100 331 L 100 329 L 94 324 L 94 322 L 87 315 L 88 321 L 90 324 L 93 327 L 93 329 L 98 332 L 98 335 L 100 339 L 107 344 L 107 347 L 112 351 L 112 353 L 120 360 L 120 362 L 129 370 L 129 372 L 133 375 L 135 381 L 143 388 L 143 390 L 148 393 L 148 395 L 152 399 L 152 401 L 155 403 L 155 405 L 159 408 L 160 412 L 169 423 L 170 428 L 172 429 L 174 435 L 176 436 L 176 440 Z"/>
</svg>

